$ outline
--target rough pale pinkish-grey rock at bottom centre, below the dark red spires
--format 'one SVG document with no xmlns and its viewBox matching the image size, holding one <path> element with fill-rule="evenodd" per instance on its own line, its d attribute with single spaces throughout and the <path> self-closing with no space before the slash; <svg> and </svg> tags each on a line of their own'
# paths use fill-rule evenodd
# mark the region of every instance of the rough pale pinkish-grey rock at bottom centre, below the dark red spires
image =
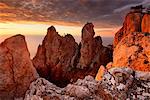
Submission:
<svg viewBox="0 0 150 100">
<path fill-rule="evenodd" d="M 30 85 L 24 100 L 108 100 L 111 95 L 106 93 L 99 82 L 87 76 L 74 84 L 59 88 L 43 78 L 38 78 Z"/>
</svg>

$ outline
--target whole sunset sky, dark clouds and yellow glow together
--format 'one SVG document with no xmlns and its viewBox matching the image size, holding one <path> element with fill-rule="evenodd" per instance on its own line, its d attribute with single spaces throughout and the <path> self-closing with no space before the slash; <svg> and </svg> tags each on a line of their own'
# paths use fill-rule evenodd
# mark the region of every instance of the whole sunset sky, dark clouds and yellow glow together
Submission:
<svg viewBox="0 0 150 100">
<path fill-rule="evenodd" d="M 150 0 L 0 0 L 0 35 L 45 35 L 53 25 L 61 35 L 79 36 L 92 22 L 96 35 L 111 37 L 139 4 Z"/>
</svg>

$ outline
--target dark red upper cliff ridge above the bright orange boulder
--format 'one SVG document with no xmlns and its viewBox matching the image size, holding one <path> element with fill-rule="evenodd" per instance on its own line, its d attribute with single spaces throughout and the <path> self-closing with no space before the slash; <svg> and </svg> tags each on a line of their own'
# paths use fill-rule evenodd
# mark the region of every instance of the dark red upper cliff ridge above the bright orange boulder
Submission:
<svg viewBox="0 0 150 100">
<path fill-rule="evenodd" d="M 150 32 L 150 14 L 143 12 L 129 12 L 123 23 L 123 27 L 115 34 L 113 46 L 132 32 Z"/>
</svg>

